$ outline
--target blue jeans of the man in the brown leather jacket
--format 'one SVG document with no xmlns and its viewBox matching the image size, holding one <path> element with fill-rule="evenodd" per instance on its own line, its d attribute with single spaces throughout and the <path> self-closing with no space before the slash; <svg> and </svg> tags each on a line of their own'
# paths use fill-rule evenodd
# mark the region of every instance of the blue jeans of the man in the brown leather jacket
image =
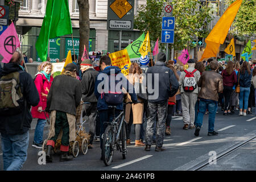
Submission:
<svg viewBox="0 0 256 182">
<path fill-rule="evenodd" d="M 201 127 L 203 125 L 204 114 L 208 109 L 209 111 L 208 132 L 214 131 L 214 122 L 215 122 L 215 115 L 216 115 L 217 108 L 218 108 L 217 102 L 200 100 L 199 113 L 197 114 L 195 126 Z"/>
</svg>

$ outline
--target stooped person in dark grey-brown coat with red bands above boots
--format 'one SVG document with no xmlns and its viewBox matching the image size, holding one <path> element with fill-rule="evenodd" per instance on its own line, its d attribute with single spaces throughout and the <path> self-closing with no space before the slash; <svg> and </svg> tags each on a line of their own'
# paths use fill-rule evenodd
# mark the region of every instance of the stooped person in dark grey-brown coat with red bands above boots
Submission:
<svg viewBox="0 0 256 182">
<path fill-rule="evenodd" d="M 76 139 L 76 109 L 81 104 L 81 82 L 76 78 L 77 66 L 69 63 L 64 72 L 54 78 L 47 97 L 46 110 L 51 111 L 46 162 L 52 162 L 52 152 L 62 130 L 60 161 L 72 160 L 69 144 Z"/>
</svg>

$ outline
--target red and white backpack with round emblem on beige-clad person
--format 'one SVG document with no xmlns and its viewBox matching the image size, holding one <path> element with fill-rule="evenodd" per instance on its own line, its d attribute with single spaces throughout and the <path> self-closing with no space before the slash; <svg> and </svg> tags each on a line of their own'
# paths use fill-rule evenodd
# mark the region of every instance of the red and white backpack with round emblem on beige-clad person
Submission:
<svg viewBox="0 0 256 182">
<path fill-rule="evenodd" d="M 194 69 L 192 72 L 184 70 L 184 72 L 186 73 L 183 81 L 183 89 L 185 92 L 193 92 L 196 89 L 196 78 L 194 76 L 194 73 L 196 71 L 196 69 Z"/>
</svg>

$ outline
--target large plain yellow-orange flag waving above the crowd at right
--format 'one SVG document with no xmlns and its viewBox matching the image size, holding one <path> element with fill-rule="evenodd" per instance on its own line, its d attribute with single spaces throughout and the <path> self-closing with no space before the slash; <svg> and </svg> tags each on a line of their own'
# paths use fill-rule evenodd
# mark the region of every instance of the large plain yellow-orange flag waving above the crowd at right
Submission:
<svg viewBox="0 0 256 182">
<path fill-rule="evenodd" d="M 226 35 L 228 35 L 229 28 L 237 15 L 237 11 L 239 10 L 241 3 L 242 0 L 233 2 L 218 20 L 210 34 L 205 39 L 207 47 L 199 61 L 209 57 L 216 57 L 218 48 L 220 47 L 220 44 L 224 43 Z"/>
</svg>

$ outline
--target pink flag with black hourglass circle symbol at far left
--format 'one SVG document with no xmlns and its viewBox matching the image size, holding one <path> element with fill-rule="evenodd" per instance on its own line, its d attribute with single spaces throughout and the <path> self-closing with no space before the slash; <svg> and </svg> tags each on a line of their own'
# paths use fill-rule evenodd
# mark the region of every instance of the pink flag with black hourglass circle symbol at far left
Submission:
<svg viewBox="0 0 256 182">
<path fill-rule="evenodd" d="M 3 57 L 2 63 L 9 63 L 16 48 L 20 46 L 19 38 L 13 22 L 0 36 L 0 55 Z"/>
</svg>

